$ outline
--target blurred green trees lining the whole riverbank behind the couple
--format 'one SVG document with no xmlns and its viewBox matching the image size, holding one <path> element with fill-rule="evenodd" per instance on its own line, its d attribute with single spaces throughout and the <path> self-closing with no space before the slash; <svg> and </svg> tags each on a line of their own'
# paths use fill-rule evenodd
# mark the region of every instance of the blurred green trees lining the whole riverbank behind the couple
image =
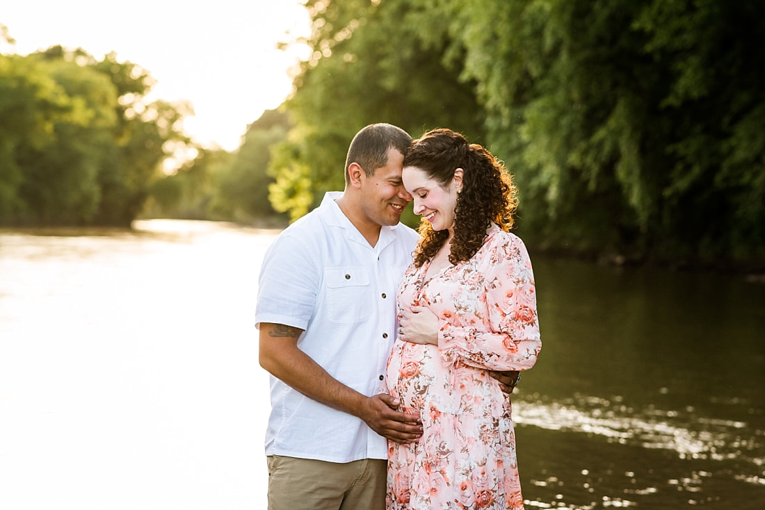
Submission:
<svg viewBox="0 0 765 510">
<path fill-rule="evenodd" d="M 150 216 L 284 222 L 343 187 L 353 135 L 463 132 L 521 190 L 535 249 L 765 266 L 765 4 L 745 0 L 308 0 L 311 58 L 237 151 L 188 106 L 82 50 L 0 55 L 0 223 Z M 8 37 L 8 36 L 6 36 Z M 409 212 L 405 222 L 416 223 Z"/>
</svg>

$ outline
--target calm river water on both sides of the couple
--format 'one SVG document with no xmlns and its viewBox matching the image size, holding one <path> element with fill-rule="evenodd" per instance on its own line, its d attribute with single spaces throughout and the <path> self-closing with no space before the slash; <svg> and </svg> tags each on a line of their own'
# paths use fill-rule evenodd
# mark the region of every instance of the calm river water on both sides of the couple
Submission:
<svg viewBox="0 0 765 510">
<path fill-rule="evenodd" d="M 0 508 L 265 508 L 278 232 L 0 230 Z M 536 256 L 526 508 L 765 508 L 765 284 Z"/>
</svg>

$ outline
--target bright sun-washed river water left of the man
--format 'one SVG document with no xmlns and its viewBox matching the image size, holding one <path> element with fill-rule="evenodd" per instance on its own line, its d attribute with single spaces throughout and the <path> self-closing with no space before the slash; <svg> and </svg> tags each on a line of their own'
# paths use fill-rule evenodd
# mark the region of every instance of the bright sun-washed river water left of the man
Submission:
<svg viewBox="0 0 765 510">
<path fill-rule="evenodd" d="M 136 226 L 0 232 L 0 508 L 265 508 L 275 234 Z"/>
</svg>

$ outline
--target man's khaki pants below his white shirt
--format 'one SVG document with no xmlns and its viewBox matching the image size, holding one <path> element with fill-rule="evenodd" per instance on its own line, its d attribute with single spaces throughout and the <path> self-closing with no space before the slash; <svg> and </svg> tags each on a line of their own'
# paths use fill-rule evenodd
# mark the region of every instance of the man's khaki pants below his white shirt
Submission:
<svg viewBox="0 0 765 510">
<path fill-rule="evenodd" d="M 386 460 L 267 460 L 269 510 L 385 510 Z"/>
</svg>

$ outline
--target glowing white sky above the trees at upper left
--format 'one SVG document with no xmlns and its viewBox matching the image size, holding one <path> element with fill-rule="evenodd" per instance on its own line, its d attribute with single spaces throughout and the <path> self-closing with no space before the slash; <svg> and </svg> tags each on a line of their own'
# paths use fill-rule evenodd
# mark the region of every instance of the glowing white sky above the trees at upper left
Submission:
<svg viewBox="0 0 765 510">
<path fill-rule="evenodd" d="M 277 44 L 308 34 L 299 0 L 4 2 L 0 24 L 16 41 L 3 53 L 60 44 L 97 59 L 114 51 L 118 60 L 137 63 L 157 80 L 148 99 L 190 102 L 187 134 L 227 151 L 291 92 L 289 72 L 306 50 Z"/>
</svg>

